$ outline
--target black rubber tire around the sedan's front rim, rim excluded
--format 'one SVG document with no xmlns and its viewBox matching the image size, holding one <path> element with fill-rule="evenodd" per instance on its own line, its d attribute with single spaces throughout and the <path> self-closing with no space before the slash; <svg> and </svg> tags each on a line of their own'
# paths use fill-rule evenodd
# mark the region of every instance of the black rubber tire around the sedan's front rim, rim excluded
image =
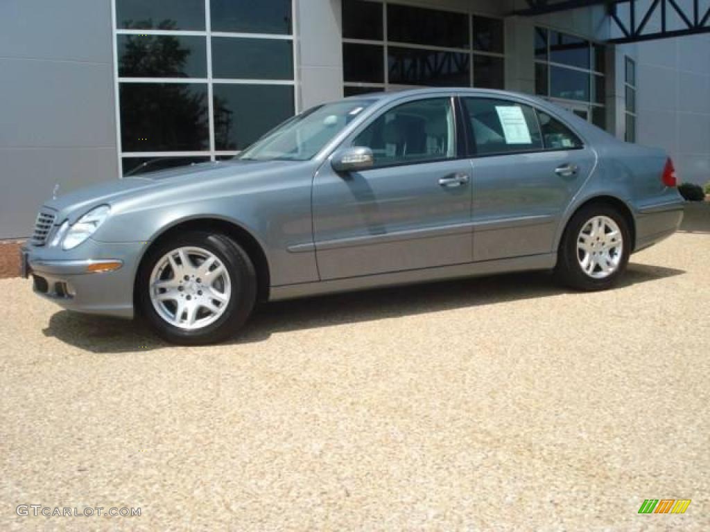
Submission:
<svg viewBox="0 0 710 532">
<path fill-rule="evenodd" d="M 197 329 L 169 323 L 158 314 L 151 301 L 149 285 L 153 268 L 167 253 L 184 247 L 202 248 L 214 254 L 226 268 L 231 282 L 231 297 L 223 314 L 213 323 Z M 225 340 L 244 326 L 256 301 L 256 287 L 256 270 L 238 243 L 222 234 L 186 231 L 160 240 L 148 251 L 138 270 L 136 299 L 141 315 L 158 336 L 179 345 L 204 345 Z"/>
</svg>

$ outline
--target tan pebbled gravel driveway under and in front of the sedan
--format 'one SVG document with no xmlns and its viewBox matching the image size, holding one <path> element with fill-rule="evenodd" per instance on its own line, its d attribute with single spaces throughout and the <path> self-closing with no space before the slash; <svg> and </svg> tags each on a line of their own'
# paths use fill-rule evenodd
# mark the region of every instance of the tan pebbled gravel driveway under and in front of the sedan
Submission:
<svg viewBox="0 0 710 532">
<path fill-rule="evenodd" d="M 284 302 L 208 348 L 0 280 L 0 530 L 707 531 L 706 207 L 611 292 L 534 273 Z M 692 504 L 637 514 L 664 498 Z"/>
</svg>

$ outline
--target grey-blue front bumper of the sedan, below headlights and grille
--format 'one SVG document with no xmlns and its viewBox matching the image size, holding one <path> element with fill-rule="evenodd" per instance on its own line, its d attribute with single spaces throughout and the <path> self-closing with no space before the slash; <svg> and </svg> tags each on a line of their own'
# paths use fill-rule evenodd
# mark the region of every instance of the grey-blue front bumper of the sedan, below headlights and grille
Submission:
<svg viewBox="0 0 710 532">
<path fill-rule="evenodd" d="M 72 250 L 74 253 L 28 245 L 21 251 L 23 273 L 33 279 L 35 294 L 65 309 L 132 318 L 133 280 L 145 245 L 89 239 Z M 109 262 L 119 263 L 120 267 L 88 272 Z"/>
</svg>

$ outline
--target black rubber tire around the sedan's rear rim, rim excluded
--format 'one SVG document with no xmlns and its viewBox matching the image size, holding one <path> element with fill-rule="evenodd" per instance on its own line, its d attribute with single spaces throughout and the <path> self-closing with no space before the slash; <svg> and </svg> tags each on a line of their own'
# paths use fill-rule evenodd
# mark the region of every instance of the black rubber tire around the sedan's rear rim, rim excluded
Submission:
<svg viewBox="0 0 710 532">
<path fill-rule="evenodd" d="M 579 251 L 577 250 L 579 233 L 582 228 L 586 226 L 586 223 L 595 216 L 611 218 L 618 226 L 619 231 L 621 231 L 621 238 L 623 239 L 621 259 L 619 260 L 618 267 L 616 267 L 616 270 L 611 273 L 611 275 L 603 279 L 595 279 L 582 270 L 579 263 Z M 631 246 L 631 231 L 626 217 L 611 205 L 589 204 L 574 214 L 567 223 L 567 228 L 565 228 L 562 234 L 562 240 L 560 240 L 559 243 L 555 275 L 562 284 L 577 290 L 591 292 L 611 288 L 626 271 Z"/>
</svg>

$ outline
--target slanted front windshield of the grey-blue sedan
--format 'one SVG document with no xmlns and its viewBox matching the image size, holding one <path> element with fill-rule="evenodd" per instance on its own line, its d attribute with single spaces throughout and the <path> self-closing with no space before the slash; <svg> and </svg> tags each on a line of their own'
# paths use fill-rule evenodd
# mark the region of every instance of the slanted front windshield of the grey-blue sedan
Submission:
<svg viewBox="0 0 710 532">
<path fill-rule="evenodd" d="M 354 121 L 374 100 L 344 100 L 313 107 L 269 131 L 237 159 L 305 161 Z"/>
</svg>

